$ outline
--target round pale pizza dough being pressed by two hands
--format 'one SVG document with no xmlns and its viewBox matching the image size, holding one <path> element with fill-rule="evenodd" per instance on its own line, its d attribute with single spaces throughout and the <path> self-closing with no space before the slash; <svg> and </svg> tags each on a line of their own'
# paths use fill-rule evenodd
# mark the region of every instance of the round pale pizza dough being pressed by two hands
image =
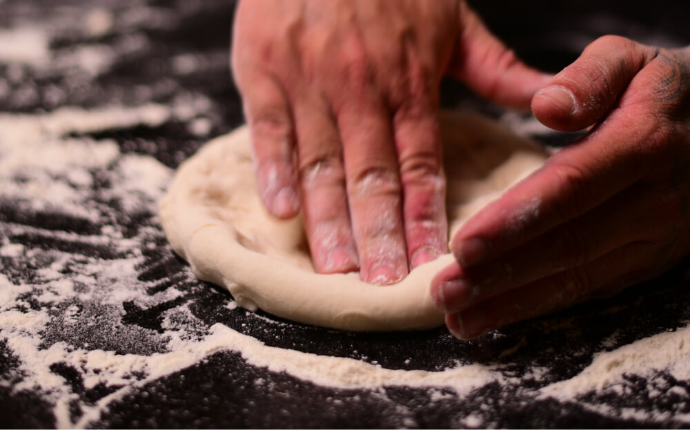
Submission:
<svg viewBox="0 0 690 430">
<path fill-rule="evenodd" d="M 546 159 L 540 146 L 491 119 L 442 113 L 441 124 L 451 232 Z M 276 219 L 259 199 L 246 127 L 208 142 L 180 166 L 160 214 L 172 248 L 195 275 L 225 286 L 251 311 L 353 331 L 443 322 L 429 285 L 451 254 L 389 286 L 367 284 L 357 273 L 315 273 L 302 220 Z"/>
</svg>

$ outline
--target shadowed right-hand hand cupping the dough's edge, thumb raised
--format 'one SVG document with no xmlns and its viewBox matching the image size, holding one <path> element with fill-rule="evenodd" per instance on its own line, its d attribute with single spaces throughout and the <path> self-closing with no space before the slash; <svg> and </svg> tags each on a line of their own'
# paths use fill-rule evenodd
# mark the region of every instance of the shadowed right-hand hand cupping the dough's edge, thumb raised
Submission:
<svg viewBox="0 0 690 430">
<path fill-rule="evenodd" d="M 690 49 L 607 36 L 532 100 L 557 130 L 592 126 L 453 237 L 432 283 L 460 338 L 650 279 L 690 240 Z"/>
</svg>

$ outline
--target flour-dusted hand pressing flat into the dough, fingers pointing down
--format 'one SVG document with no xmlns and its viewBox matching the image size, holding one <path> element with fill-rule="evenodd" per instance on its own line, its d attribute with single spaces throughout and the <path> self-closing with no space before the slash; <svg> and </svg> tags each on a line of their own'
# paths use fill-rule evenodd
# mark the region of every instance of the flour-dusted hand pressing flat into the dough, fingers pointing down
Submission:
<svg viewBox="0 0 690 430">
<path fill-rule="evenodd" d="M 266 208 L 378 284 L 447 251 L 442 75 L 517 108 L 547 79 L 458 0 L 242 1 L 232 59 Z"/>
</svg>

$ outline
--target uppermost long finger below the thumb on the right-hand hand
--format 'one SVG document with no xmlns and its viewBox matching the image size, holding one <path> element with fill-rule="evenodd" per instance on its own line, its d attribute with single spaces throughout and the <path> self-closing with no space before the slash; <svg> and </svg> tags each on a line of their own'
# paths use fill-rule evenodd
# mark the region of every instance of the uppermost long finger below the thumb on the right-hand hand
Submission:
<svg viewBox="0 0 690 430">
<path fill-rule="evenodd" d="M 654 121 L 616 110 L 589 135 L 552 155 L 462 226 L 451 242 L 457 260 L 464 267 L 489 262 L 637 182 L 653 168 L 649 154 L 615 142 L 652 139 Z"/>
</svg>

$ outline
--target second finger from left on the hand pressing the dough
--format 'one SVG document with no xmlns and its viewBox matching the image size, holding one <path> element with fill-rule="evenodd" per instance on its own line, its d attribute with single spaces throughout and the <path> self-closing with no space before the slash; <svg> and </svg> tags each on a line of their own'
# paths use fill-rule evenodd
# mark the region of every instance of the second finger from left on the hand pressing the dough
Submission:
<svg viewBox="0 0 690 430">
<path fill-rule="evenodd" d="M 335 120 L 317 97 L 295 104 L 304 227 L 317 271 L 357 270 L 345 172 Z"/>
</svg>

